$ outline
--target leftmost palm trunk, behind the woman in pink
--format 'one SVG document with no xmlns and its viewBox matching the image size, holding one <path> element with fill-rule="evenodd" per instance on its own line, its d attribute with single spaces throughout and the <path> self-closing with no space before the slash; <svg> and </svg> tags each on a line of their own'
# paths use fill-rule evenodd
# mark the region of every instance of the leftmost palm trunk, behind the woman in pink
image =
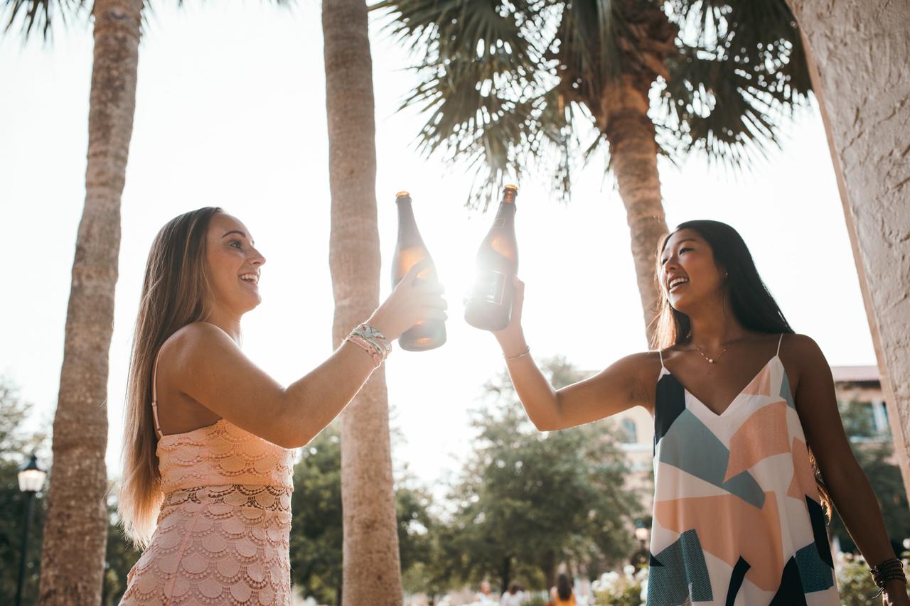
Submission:
<svg viewBox="0 0 910 606">
<path fill-rule="evenodd" d="M 86 205 L 76 237 L 54 467 L 41 551 L 42 604 L 101 601 L 107 533 L 107 357 L 114 324 L 120 196 L 133 133 L 142 0 L 96 0 Z"/>
</svg>

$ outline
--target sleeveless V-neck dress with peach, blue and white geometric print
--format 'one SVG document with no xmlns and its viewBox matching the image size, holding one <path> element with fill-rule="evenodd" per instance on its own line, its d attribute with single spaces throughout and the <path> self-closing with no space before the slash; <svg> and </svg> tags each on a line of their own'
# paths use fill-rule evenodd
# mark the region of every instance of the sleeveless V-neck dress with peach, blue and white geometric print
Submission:
<svg viewBox="0 0 910 606">
<path fill-rule="evenodd" d="M 720 415 L 661 353 L 648 606 L 840 603 L 780 343 Z"/>
</svg>

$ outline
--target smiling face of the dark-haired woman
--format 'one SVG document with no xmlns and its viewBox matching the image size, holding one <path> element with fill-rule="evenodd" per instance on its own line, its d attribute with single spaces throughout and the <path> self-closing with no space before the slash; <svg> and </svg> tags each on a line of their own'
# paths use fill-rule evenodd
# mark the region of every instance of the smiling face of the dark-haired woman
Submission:
<svg viewBox="0 0 910 606">
<path fill-rule="evenodd" d="M 660 280 L 672 308 L 688 315 L 699 301 L 722 293 L 725 279 L 711 246 L 697 231 L 681 229 L 667 240 Z"/>
</svg>

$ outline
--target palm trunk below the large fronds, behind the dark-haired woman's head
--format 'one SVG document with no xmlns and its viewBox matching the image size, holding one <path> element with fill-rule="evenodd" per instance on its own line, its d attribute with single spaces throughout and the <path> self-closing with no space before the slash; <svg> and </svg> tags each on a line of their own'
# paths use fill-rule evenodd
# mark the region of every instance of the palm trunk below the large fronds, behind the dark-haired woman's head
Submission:
<svg viewBox="0 0 910 606">
<path fill-rule="evenodd" d="M 636 86 L 636 78 L 622 76 L 602 98 L 603 119 L 599 126 L 610 142 L 612 170 L 632 235 L 632 259 L 645 332 L 652 343 L 652 320 L 661 296 L 654 279 L 654 255 L 660 238 L 667 233 L 667 222 L 657 174 L 657 142 L 648 107 L 647 86 L 642 90 L 642 86 Z"/>
</svg>

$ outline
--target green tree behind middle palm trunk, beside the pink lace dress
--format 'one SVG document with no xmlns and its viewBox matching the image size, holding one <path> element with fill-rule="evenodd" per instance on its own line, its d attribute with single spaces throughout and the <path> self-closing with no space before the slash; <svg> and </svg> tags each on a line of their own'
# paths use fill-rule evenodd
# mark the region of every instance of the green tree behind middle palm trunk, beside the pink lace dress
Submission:
<svg viewBox="0 0 910 606">
<path fill-rule="evenodd" d="M 430 559 L 430 495 L 399 480 L 395 491 L 402 571 Z M 339 604 L 342 588 L 341 444 L 331 425 L 303 449 L 294 468 L 291 579 L 319 603 Z M 413 578 L 413 576 L 411 577 Z"/>
</svg>

